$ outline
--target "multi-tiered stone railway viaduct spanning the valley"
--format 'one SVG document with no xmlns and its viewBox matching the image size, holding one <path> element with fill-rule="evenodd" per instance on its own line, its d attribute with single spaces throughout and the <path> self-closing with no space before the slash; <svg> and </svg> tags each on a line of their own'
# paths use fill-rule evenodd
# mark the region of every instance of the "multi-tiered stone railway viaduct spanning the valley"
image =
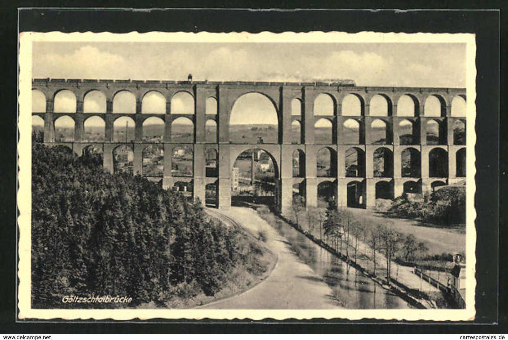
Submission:
<svg viewBox="0 0 508 340">
<path fill-rule="evenodd" d="M 298 184 L 305 196 L 307 207 L 317 205 L 317 188 L 324 181 L 333 183 L 334 196 L 339 206 L 346 206 L 350 201 L 360 203 L 362 206 L 375 205 L 376 188 L 379 183 L 388 185 L 394 197 L 402 194 L 407 183 L 416 184 L 417 191 L 428 191 L 435 184 L 454 184 L 465 180 L 465 172 L 459 171 L 457 157 L 465 164 L 465 143 L 455 145 L 454 123 L 460 120 L 464 123 L 466 117 L 452 117 L 451 106 L 455 96 L 465 99 L 464 88 L 403 88 L 403 87 L 357 87 L 346 86 L 340 83 L 279 83 L 279 82 L 208 82 L 208 81 L 134 81 L 134 80 L 72 80 L 72 79 L 34 79 L 33 90 L 41 91 L 46 98 L 46 111 L 33 112 L 44 120 L 44 143 L 48 145 L 67 145 L 75 153 L 81 154 L 89 145 L 99 146 L 103 150 L 104 167 L 113 172 L 113 151 L 120 145 L 129 145 L 134 151 L 134 173 L 142 173 L 142 152 L 153 143 L 143 141 L 143 121 L 148 117 L 158 117 L 164 120 L 165 132 L 164 146 L 164 176 L 163 187 L 170 188 L 177 181 L 190 181 L 193 183 L 194 198 L 205 200 L 205 186 L 216 184 L 216 205 L 219 208 L 231 206 L 231 169 L 236 158 L 248 149 L 263 149 L 270 154 L 275 168 L 275 203 L 282 212 L 288 212 L 292 206 L 293 187 Z M 54 112 L 54 99 L 59 91 L 70 90 L 76 96 L 76 109 L 73 112 Z M 83 113 L 83 101 L 87 93 L 92 90 L 101 91 L 106 97 L 106 112 Z M 119 91 L 130 91 L 136 98 L 135 113 L 113 113 L 113 99 Z M 166 113 L 142 113 L 142 100 L 146 93 L 157 91 L 166 98 Z M 178 92 L 187 92 L 194 97 L 194 114 L 173 113 L 171 98 Z M 278 118 L 278 143 L 276 144 L 234 144 L 230 142 L 230 115 L 235 101 L 247 93 L 260 93 L 272 102 Z M 333 115 L 323 116 L 314 113 L 314 99 L 321 93 L 328 94 L 333 100 Z M 342 112 L 342 103 L 346 95 L 354 94 L 361 104 L 360 116 L 346 116 Z M 384 117 L 372 116 L 369 110 L 370 100 L 374 95 L 382 95 L 388 103 L 388 115 Z M 398 99 L 409 96 L 415 104 L 414 115 L 399 117 L 396 115 Z M 439 99 L 441 112 L 438 117 L 427 117 L 425 100 L 429 96 Z M 214 115 L 206 114 L 207 98 L 215 98 L 217 110 Z M 292 100 L 301 101 L 301 110 L 296 115 L 292 113 Z M 61 116 L 69 116 L 75 122 L 74 142 L 55 142 L 54 122 Z M 89 143 L 84 141 L 84 121 L 92 116 L 99 116 L 105 122 L 105 140 L 102 143 Z M 121 116 L 129 116 L 135 121 L 135 138 L 133 143 L 118 143 L 113 141 L 113 123 Z M 187 117 L 194 123 L 194 143 L 182 145 L 171 142 L 171 123 L 178 117 Z M 314 139 L 314 124 L 317 120 L 326 118 L 332 123 L 332 144 L 318 144 Z M 359 123 L 359 141 L 355 144 L 346 144 L 343 140 L 343 123 L 348 119 L 355 119 Z M 387 138 L 384 145 L 373 144 L 371 123 L 382 119 L 386 123 Z M 216 143 L 207 143 L 205 139 L 205 124 L 208 120 L 216 122 Z M 301 142 L 292 144 L 292 123 L 297 120 L 301 124 Z M 412 124 L 411 145 L 400 145 L 399 122 L 408 120 Z M 439 125 L 439 142 L 437 145 L 428 145 L 426 126 L 429 120 Z M 191 178 L 172 177 L 171 157 L 173 149 L 187 146 L 193 150 L 193 176 Z M 327 148 L 331 153 L 330 177 L 319 177 L 316 169 L 318 151 Z M 363 169 L 350 174 L 345 166 L 346 150 L 354 148 L 358 154 L 358 165 Z M 389 166 L 393 166 L 389 177 L 374 176 L 374 152 L 379 148 L 386 148 L 392 155 Z M 410 148 L 419 159 L 411 164 L 419 167 L 416 172 L 407 177 L 401 173 L 401 154 Z M 206 176 L 205 153 L 214 149 L 217 152 L 218 173 L 215 178 Z M 429 157 L 440 149 L 446 159 L 439 161 L 444 164 L 446 171 L 439 176 L 429 171 Z M 293 154 L 296 150 L 302 155 L 302 171 L 298 177 L 293 174 Z M 414 151 L 414 152 L 415 152 Z M 413 156 L 411 155 L 411 158 Z M 432 160 L 430 160 L 432 162 Z M 448 164 L 446 162 L 448 161 Z M 412 166 L 412 165 L 411 165 Z M 464 165 L 462 165 L 464 166 Z M 460 173 L 460 174 L 459 174 Z M 356 186 L 356 191 L 350 195 L 349 187 Z M 361 197 L 361 198 L 360 198 Z"/>
</svg>

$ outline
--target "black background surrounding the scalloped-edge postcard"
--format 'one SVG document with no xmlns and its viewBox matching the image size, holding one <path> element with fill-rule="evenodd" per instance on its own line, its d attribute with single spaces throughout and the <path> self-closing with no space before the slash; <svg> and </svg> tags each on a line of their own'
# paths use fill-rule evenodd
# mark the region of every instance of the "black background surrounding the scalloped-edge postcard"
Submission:
<svg viewBox="0 0 508 340">
<path fill-rule="evenodd" d="M 500 2 L 483 2 L 484 8 L 499 8 Z M 500 18 L 502 12 L 493 10 L 419 10 L 419 11 L 361 11 L 361 10 L 85 10 L 85 9 L 20 9 L 18 7 L 51 6 L 49 2 L 37 3 L 20 2 L 11 7 L 0 8 L 0 50 L 2 58 L 2 81 L 0 96 L 3 103 L 2 124 L 0 133 L 2 149 L 0 152 L 0 174 L 2 186 L 0 187 L 0 334 L 27 334 L 27 333 L 72 333 L 72 332 L 110 332 L 110 333 L 167 333 L 167 332 L 397 332 L 397 333 L 506 333 L 506 296 L 502 293 L 505 284 L 503 278 L 506 264 L 501 246 L 499 259 L 498 243 L 503 245 L 503 233 L 506 221 L 501 216 L 499 225 L 499 207 L 503 207 L 503 197 L 499 205 L 499 91 L 506 91 L 503 84 L 499 86 L 499 53 L 506 55 L 506 46 L 499 49 L 499 38 L 505 37 L 505 27 L 500 31 Z M 54 5 L 54 4 L 53 4 Z M 81 1 L 68 1 L 60 6 L 84 6 Z M 120 7 L 126 6 L 118 2 L 101 2 L 100 4 L 87 3 L 87 6 L 101 5 Z M 131 4 L 134 5 L 134 4 Z M 190 7 L 203 6 L 196 2 L 173 2 L 142 4 L 144 8 L 156 7 Z M 259 7 L 259 3 L 239 4 L 237 2 L 217 3 L 215 7 Z M 328 3 L 297 3 L 300 7 L 330 8 L 332 6 L 354 6 L 356 8 L 407 8 L 404 2 L 390 2 L 389 4 L 374 4 L 373 2 L 355 2 L 344 4 Z M 479 6 L 473 2 L 418 2 L 416 8 L 474 8 Z M 139 6 L 139 4 L 136 4 Z M 209 4 L 207 6 L 210 6 Z M 277 7 L 289 6 L 287 2 L 272 4 Z M 270 8 L 270 6 L 267 6 Z M 375 320 L 362 320 L 350 322 L 347 320 L 311 320 L 301 323 L 298 320 L 286 320 L 283 323 L 274 320 L 265 320 L 273 324 L 252 322 L 250 320 L 235 320 L 233 322 L 205 320 L 199 323 L 185 320 L 168 321 L 154 320 L 157 323 L 126 324 L 124 322 L 101 321 L 94 322 L 16 322 L 16 109 L 17 109 L 17 33 L 19 31 L 249 31 L 252 33 L 264 30 L 272 32 L 282 31 L 310 31 L 310 30 L 337 30 L 350 33 L 373 30 L 379 32 L 471 32 L 477 37 L 477 193 L 475 207 L 478 218 L 477 225 L 477 292 L 476 309 L 477 318 L 471 322 L 462 323 L 432 323 L 429 322 L 379 322 Z M 502 65 L 504 66 L 504 65 Z M 503 68 L 503 67 L 502 67 Z M 501 68 L 501 71 L 502 71 Z M 503 93 L 503 92 L 501 92 Z M 501 99 L 502 107 L 506 106 L 506 95 Z M 504 130 L 501 128 L 501 130 Z M 502 133 L 501 133 L 502 135 Z M 507 147 L 501 145 L 501 154 L 506 154 Z M 504 165 L 501 169 L 504 177 Z M 501 190 L 499 190 L 501 189 Z M 503 209 L 501 209 L 502 211 Z M 500 228 L 499 228 L 500 227 Z M 498 236 L 498 232 L 501 234 Z M 501 274 L 498 287 L 498 274 Z M 498 311 L 499 305 L 499 311 Z M 139 321 L 139 320 L 138 320 Z M 218 322 L 218 323 L 217 323 Z M 352 325 L 345 325 L 351 323 Z M 376 323 L 363 325 L 361 323 Z M 482 325 L 479 325 L 482 324 Z M 496 325 L 497 324 L 497 325 Z M 500 325 L 499 325 L 500 324 Z"/>
</svg>

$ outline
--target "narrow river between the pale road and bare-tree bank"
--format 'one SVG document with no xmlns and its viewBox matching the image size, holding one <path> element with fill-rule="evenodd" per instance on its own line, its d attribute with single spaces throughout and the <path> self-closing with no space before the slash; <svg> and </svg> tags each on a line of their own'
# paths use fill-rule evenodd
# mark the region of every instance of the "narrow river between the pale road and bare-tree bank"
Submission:
<svg viewBox="0 0 508 340">
<path fill-rule="evenodd" d="M 346 309 L 404 309 L 411 306 L 365 275 L 310 241 L 305 235 L 272 214 L 263 214 L 281 236 L 288 240 L 298 257 L 332 289 Z"/>
</svg>

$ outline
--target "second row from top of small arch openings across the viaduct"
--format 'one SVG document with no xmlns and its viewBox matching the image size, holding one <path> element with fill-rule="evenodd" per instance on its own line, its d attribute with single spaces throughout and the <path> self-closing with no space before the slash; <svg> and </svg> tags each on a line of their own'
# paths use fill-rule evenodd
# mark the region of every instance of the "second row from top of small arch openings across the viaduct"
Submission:
<svg viewBox="0 0 508 340">
<path fill-rule="evenodd" d="M 56 142 L 75 141 L 75 122 L 70 116 L 61 116 L 53 123 Z M 171 123 L 172 128 L 171 141 L 177 143 L 194 142 L 194 123 L 186 117 L 178 117 Z M 35 130 L 39 129 L 44 133 L 44 120 L 34 115 L 32 125 Z M 415 122 L 403 120 L 399 123 L 399 144 L 400 145 L 418 145 L 420 144 L 418 126 Z M 136 123 L 131 117 L 118 117 L 113 122 L 113 142 L 130 142 L 135 137 Z M 316 144 L 335 144 L 333 125 L 328 119 L 320 119 L 315 125 L 315 143 Z M 465 122 L 455 120 L 453 126 L 454 145 L 465 145 Z M 429 120 L 426 122 L 426 142 L 427 145 L 446 145 L 446 128 L 443 122 Z M 342 144 L 364 144 L 360 122 L 355 119 L 348 119 L 343 123 Z M 143 141 L 162 142 L 165 134 L 165 122 L 158 117 L 149 117 L 143 121 Z M 235 137 L 233 135 L 233 137 Z M 298 120 L 294 120 L 291 126 L 291 137 L 293 144 L 302 143 L 301 126 Z M 385 121 L 376 119 L 371 123 L 370 144 L 392 144 L 393 137 Z M 106 123 L 99 116 L 92 116 L 84 121 L 84 131 L 82 141 L 85 142 L 104 142 L 106 140 Z M 205 142 L 217 142 L 217 123 L 213 119 L 208 119 L 205 123 Z M 234 141 L 242 143 L 243 140 Z M 270 142 L 270 141 L 266 141 Z"/>
</svg>

